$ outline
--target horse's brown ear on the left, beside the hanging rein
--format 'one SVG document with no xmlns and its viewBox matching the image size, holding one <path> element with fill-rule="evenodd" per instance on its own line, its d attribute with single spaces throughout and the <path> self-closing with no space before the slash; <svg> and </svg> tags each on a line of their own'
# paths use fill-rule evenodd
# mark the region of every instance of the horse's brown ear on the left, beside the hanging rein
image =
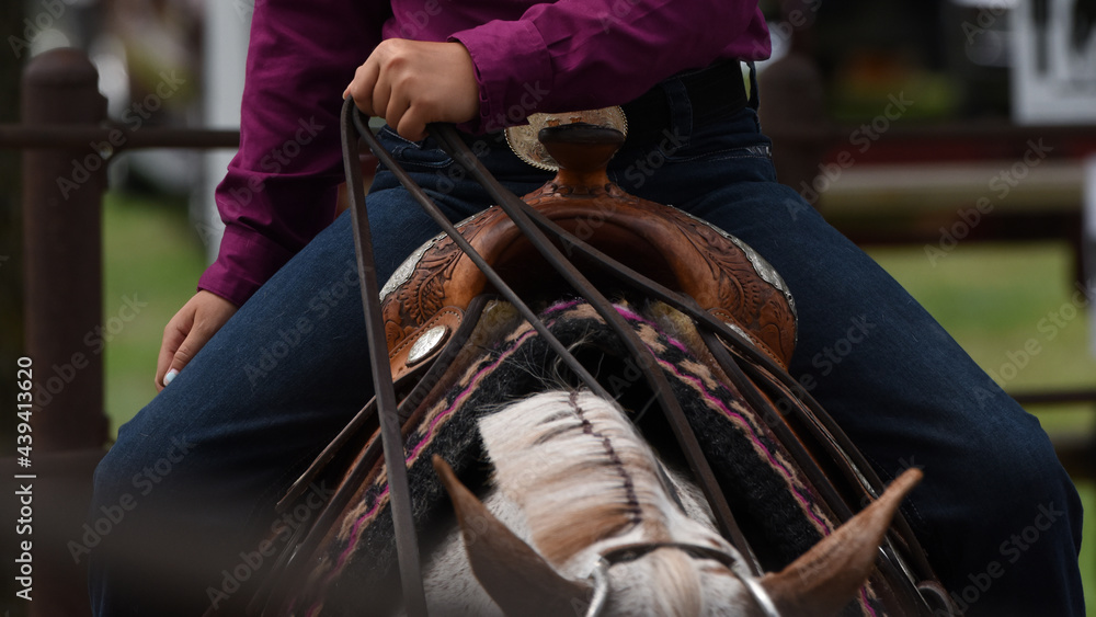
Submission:
<svg viewBox="0 0 1096 617">
<path fill-rule="evenodd" d="M 442 457 L 434 471 L 453 500 L 476 579 L 506 615 L 572 615 L 590 603 L 591 587 L 559 575 L 457 479 Z"/>
</svg>

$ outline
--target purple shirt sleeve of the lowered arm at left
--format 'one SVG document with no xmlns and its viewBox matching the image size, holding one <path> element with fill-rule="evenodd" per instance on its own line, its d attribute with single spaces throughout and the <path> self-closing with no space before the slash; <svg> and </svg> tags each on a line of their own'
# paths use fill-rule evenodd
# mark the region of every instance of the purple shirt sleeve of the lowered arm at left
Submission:
<svg viewBox="0 0 1096 617">
<path fill-rule="evenodd" d="M 335 215 L 342 91 L 390 8 L 367 0 L 256 0 L 240 149 L 216 191 L 225 221 L 198 288 L 242 305 Z"/>
</svg>

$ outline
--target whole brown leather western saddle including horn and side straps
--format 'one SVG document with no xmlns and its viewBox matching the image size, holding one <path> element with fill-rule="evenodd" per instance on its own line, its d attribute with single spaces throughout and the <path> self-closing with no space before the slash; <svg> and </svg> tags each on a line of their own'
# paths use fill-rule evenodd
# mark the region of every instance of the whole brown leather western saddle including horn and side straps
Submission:
<svg viewBox="0 0 1096 617">
<path fill-rule="evenodd" d="M 559 172 L 523 201 L 544 220 L 562 228 L 555 236 L 557 249 L 580 266 L 598 262 L 584 271 L 597 272 L 605 260 L 619 264 L 610 273 L 593 275 L 592 283 L 600 288 L 624 272 L 632 273 L 637 281 L 631 283 L 663 289 L 675 308 L 699 325 L 708 369 L 727 388 L 740 392 L 756 418 L 768 425 L 835 522 L 846 521 L 877 498 L 882 484 L 868 464 L 787 375 L 796 342 L 796 312 L 775 270 L 715 226 L 629 195 L 610 183 L 605 163 L 623 141 L 621 135 L 581 124 L 556 128 L 541 132 L 540 138 L 561 162 Z M 547 224 L 538 220 L 538 225 Z M 546 299 L 567 293 L 568 284 L 502 208 L 493 206 L 455 231 L 515 292 Z M 421 431 L 432 405 L 436 409 L 439 400 L 452 398 L 447 389 L 465 373 L 464 363 L 475 357 L 468 351 L 475 347 L 469 339 L 483 321 L 493 319 L 484 307 L 492 306 L 499 289 L 473 262 L 453 235 L 443 233 L 415 251 L 380 290 L 384 335 L 404 435 Z M 338 478 L 339 489 L 318 518 L 297 529 L 290 550 L 252 603 L 255 612 L 267 614 L 286 606 L 292 582 L 309 579 L 308 564 L 316 562 L 323 542 L 340 529 L 345 533 L 344 517 L 354 509 L 353 500 L 363 498 L 362 484 L 383 479 L 377 430 L 376 405 L 370 402 L 283 499 L 279 507 L 290 507 L 317 478 Z M 373 499 L 380 499 L 378 491 Z M 732 544 L 752 555 L 749 546 L 739 546 L 745 542 L 734 532 Z M 872 584 L 888 614 L 959 614 L 901 517 L 881 555 L 880 574 Z"/>
</svg>

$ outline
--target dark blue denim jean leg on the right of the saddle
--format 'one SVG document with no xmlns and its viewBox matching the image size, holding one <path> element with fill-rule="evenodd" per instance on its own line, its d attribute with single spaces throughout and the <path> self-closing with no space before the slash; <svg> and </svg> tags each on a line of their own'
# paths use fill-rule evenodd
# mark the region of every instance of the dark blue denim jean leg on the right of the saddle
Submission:
<svg viewBox="0 0 1096 617">
<path fill-rule="evenodd" d="M 1084 614 L 1082 509 L 1038 420 L 776 182 L 752 111 L 720 127 L 675 127 L 658 152 L 621 155 L 615 180 L 626 190 L 717 225 L 780 273 L 798 311 L 791 374 L 886 480 L 924 470 L 903 510 L 968 615 Z M 1034 528 L 1041 539 L 1029 546 L 1019 535 Z"/>
</svg>

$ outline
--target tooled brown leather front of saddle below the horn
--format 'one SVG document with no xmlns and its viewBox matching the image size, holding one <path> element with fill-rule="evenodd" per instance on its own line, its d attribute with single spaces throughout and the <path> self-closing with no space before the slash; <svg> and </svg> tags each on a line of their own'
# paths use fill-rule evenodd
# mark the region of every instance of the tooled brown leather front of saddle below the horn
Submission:
<svg viewBox="0 0 1096 617">
<path fill-rule="evenodd" d="M 604 169 L 580 174 L 563 168 L 523 201 L 613 259 L 692 297 L 787 368 L 796 341 L 791 295 L 776 271 L 737 238 L 677 208 L 625 193 Z M 459 229 L 488 264 L 515 282 L 515 290 L 550 297 L 563 287 L 500 208 Z M 444 233 L 412 254 L 381 290 L 393 378 L 436 355 L 486 290 L 483 272 Z"/>
</svg>

